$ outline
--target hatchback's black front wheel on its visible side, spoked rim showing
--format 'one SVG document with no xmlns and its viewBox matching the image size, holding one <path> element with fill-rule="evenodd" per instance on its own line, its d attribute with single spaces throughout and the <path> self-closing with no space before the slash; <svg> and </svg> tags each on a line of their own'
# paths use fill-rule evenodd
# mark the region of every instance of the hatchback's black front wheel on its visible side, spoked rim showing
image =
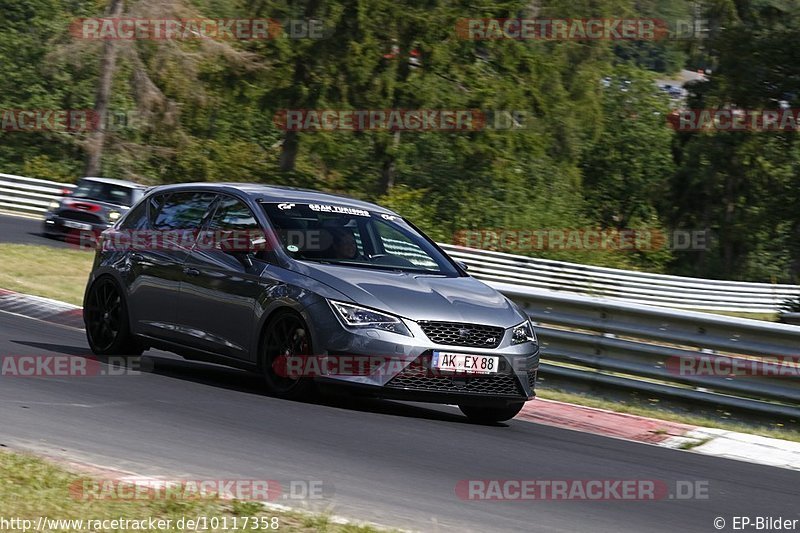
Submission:
<svg viewBox="0 0 800 533">
<path fill-rule="evenodd" d="M 311 335 L 303 318 L 294 311 L 279 311 L 264 330 L 261 343 L 261 372 L 264 384 L 273 396 L 287 400 L 309 399 L 315 392 L 310 377 L 292 377 L 281 372 L 282 358 L 312 355 Z"/>
</svg>

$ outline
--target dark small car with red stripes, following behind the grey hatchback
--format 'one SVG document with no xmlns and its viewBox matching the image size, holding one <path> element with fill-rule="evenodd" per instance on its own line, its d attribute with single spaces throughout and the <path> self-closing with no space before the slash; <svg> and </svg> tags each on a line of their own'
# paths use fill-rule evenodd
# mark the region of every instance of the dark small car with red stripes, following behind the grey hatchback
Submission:
<svg viewBox="0 0 800 533">
<path fill-rule="evenodd" d="M 48 207 L 42 232 L 53 237 L 99 235 L 144 195 L 138 183 L 112 178 L 82 178 L 75 189 Z"/>
</svg>

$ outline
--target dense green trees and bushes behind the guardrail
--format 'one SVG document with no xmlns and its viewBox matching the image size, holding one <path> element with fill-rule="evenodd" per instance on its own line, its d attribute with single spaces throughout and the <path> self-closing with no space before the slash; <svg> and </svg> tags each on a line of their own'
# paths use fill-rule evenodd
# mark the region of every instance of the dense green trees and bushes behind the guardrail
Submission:
<svg viewBox="0 0 800 533">
<path fill-rule="evenodd" d="M 0 110 L 92 109 L 116 57 L 102 174 L 259 181 L 392 206 L 442 241 L 465 229 L 709 231 L 704 251 L 530 250 L 582 263 L 766 281 L 800 274 L 796 132 L 677 133 L 656 86 L 708 68 L 689 107 L 794 106 L 796 4 L 780 0 L 116 0 L 124 16 L 322 21 L 325 38 L 77 39 L 111 0 L 0 0 Z M 470 17 L 657 17 L 661 41 L 460 38 Z M 284 109 L 516 110 L 510 129 L 292 132 Z M 74 181 L 90 135 L 0 129 L 0 172 Z M 502 245 L 498 246 L 502 249 Z M 510 250 L 513 251 L 513 250 Z"/>
</svg>

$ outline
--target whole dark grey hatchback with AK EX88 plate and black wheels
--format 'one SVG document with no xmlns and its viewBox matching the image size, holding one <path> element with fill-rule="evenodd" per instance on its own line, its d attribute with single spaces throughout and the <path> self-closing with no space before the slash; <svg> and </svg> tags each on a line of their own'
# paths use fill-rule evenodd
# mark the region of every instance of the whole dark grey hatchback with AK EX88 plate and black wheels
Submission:
<svg viewBox="0 0 800 533">
<path fill-rule="evenodd" d="M 148 190 L 100 237 L 84 321 L 98 355 L 158 348 L 283 398 L 335 384 L 481 423 L 533 399 L 539 366 L 527 315 L 409 221 L 290 187 Z"/>
</svg>

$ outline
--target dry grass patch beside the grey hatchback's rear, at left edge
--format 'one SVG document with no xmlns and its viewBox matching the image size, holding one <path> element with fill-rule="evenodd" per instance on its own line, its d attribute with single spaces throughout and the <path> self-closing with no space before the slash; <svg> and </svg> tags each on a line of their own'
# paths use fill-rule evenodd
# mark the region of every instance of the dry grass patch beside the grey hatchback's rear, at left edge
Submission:
<svg viewBox="0 0 800 533">
<path fill-rule="evenodd" d="M 0 287 L 81 305 L 94 253 L 0 243 Z"/>
</svg>

